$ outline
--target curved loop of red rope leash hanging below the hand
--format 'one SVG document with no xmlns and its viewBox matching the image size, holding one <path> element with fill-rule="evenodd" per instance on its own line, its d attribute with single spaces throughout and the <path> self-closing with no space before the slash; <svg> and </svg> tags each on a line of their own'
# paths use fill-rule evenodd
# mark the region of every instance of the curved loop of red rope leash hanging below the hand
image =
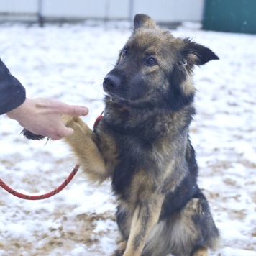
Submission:
<svg viewBox="0 0 256 256">
<path fill-rule="evenodd" d="M 62 191 L 63 188 L 65 188 L 65 186 L 67 186 L 68 183 L 70 183 L 70 180 L 72 180 L 73 177 L 76 175 L 79 167 L 80 167 L 80 165 L 76 165 L 75 168 L 73 168 L 70 175 L 68 176 L 68 178 L 58 188 L 56 188 L 54 191 L 51 191 L 49 193 L 45 193 L 44 195 L 39 195 L 39 196 L 24 195 L 23 193 L 19 193 L 17 191 L 14 191 L 12 188 L 7 186 L 6 183 L 4 183 L 4 181 L 1 180 L 1 179 L 0 179 L 0 186 L 2 188 L 4 188 L 7 192 L 9 192 L 12 195 L 17 196 L 19 198 L 26 199 L 26 200 L 41 200 L 41 199 L 45 199 L 45 198 L 49 198 L 51 196 L 54 196 L 54 195 L 56 195 L 56 193 L 59 193 L 60 191 Z"/>
</svg>

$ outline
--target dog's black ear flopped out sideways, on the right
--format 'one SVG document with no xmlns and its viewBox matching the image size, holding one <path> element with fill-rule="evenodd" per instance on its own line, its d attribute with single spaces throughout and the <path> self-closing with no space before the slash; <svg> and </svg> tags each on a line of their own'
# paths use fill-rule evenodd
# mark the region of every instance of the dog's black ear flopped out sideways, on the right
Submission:
<svg viewBox="0 0 256 256">
<path fill-rule="evenodd" d="M 185 45 L 182 50 L 183 58 L 191 65 L 204 65 L 210 60 L 219 60 L 219 57 L 209 48 L 192 42 L 191 39 L 183 40 Z"/>
</svg>

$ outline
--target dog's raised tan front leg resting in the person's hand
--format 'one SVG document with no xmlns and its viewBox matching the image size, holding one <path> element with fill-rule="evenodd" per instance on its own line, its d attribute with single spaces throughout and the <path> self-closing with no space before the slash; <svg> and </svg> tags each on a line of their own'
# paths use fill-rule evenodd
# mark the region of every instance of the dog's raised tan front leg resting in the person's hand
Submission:
<svg viewBox="0 0 256 256">
<path fill-rule="evenodd" d="M 74 130 L 74 133 L 65 137 L 65 142 L 78 157 L 78 162 L 93 182 L 102 182 L 109 178 L 105 161 L 99 151 L 96 134 L 79 117 L 62 116 L 66 127 Z"/>
</svg>

